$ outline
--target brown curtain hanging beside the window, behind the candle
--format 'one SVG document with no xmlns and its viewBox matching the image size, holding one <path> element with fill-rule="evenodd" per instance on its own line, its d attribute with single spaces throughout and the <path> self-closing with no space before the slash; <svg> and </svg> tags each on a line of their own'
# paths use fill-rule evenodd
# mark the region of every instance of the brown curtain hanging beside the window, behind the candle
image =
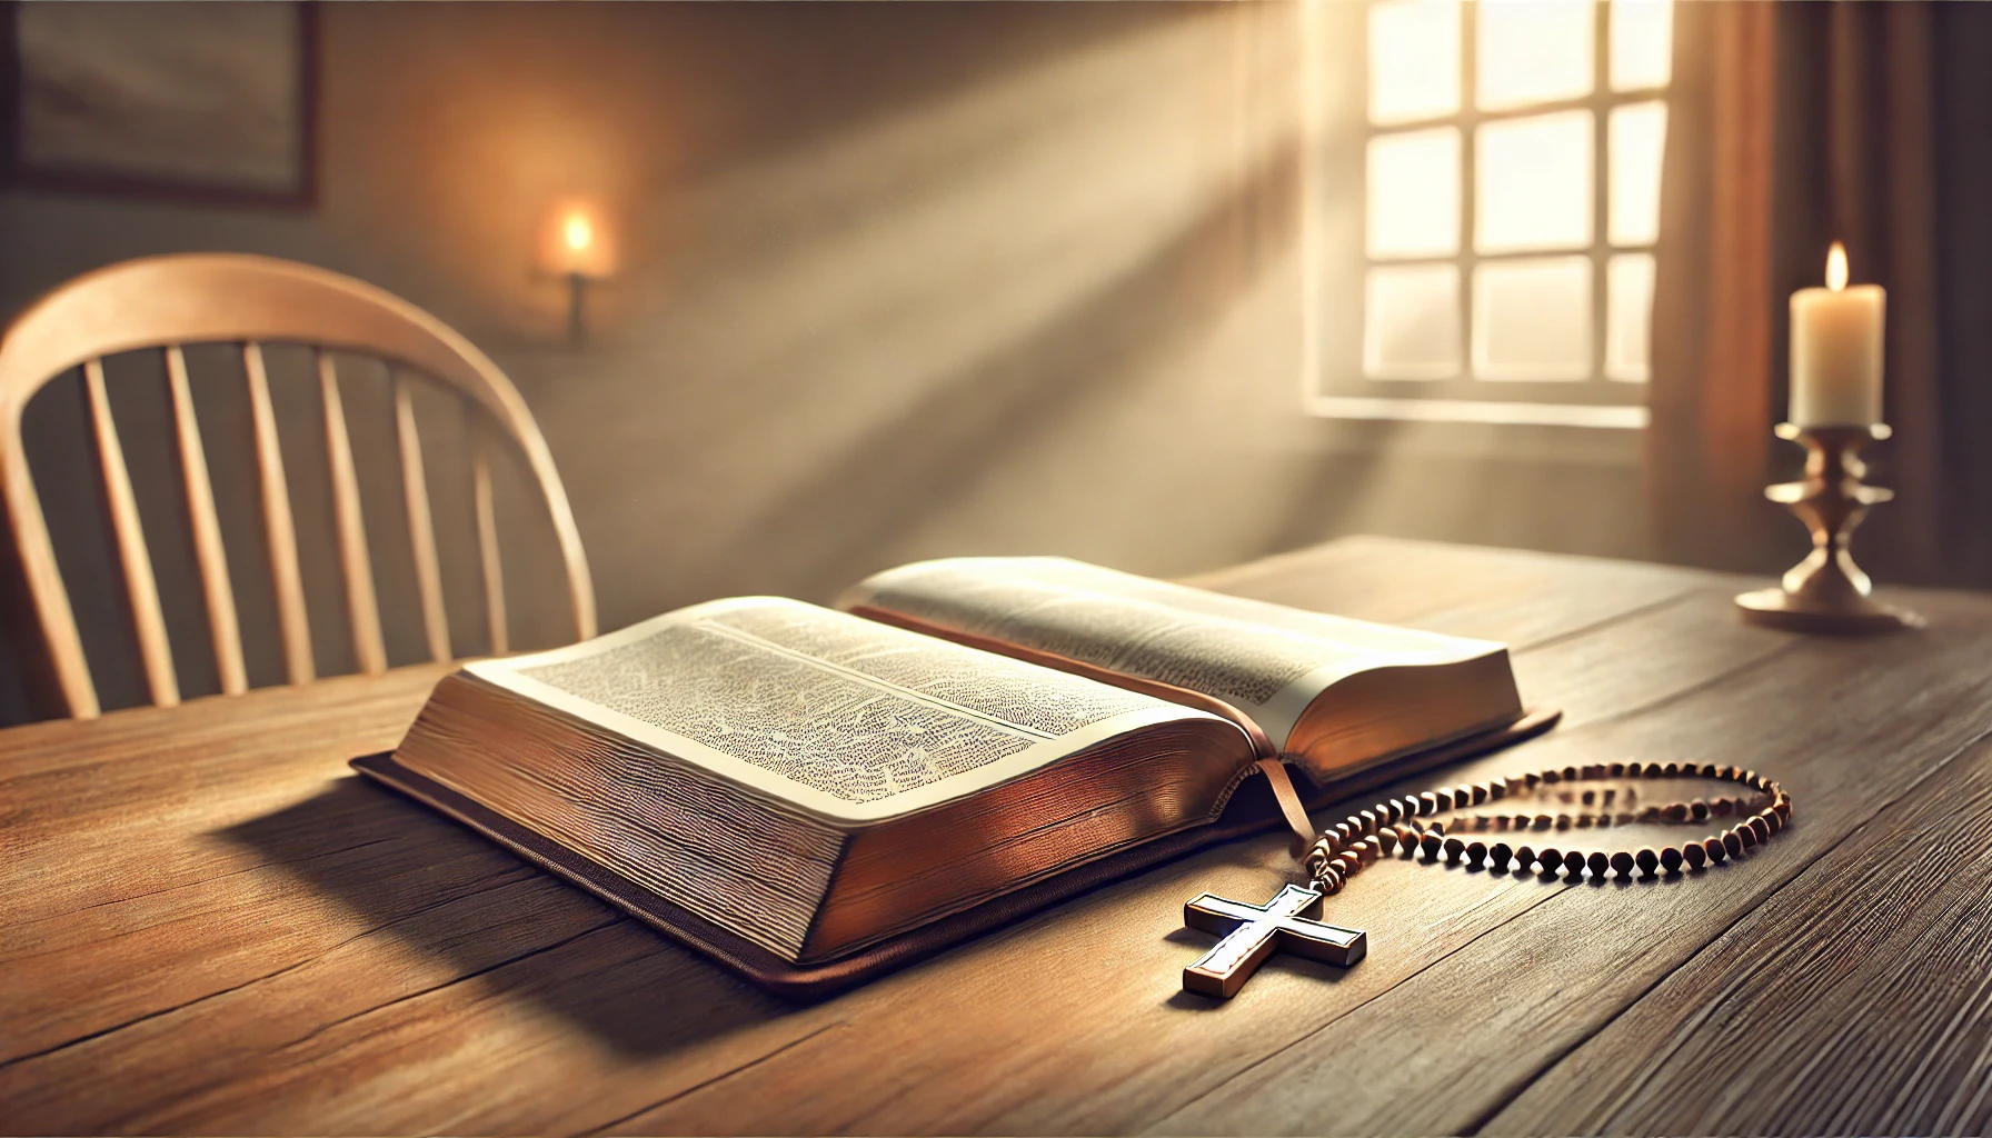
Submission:
<svg viewBox="0 0 1992 1138">
<path fill-rule="evenodd" d="M 1882 580 L 1992 584 L 1992 157 L 1984 6 L 1675 4 L 1653 299 L 1649 516 L 1667 560 L 1781 570 L 1807 548 L 1763 486 L 1801 452 L 1789 295 L 1847 243 L 1888 289 L 1878 506 L 1855 556 Z"/>
</svg>

